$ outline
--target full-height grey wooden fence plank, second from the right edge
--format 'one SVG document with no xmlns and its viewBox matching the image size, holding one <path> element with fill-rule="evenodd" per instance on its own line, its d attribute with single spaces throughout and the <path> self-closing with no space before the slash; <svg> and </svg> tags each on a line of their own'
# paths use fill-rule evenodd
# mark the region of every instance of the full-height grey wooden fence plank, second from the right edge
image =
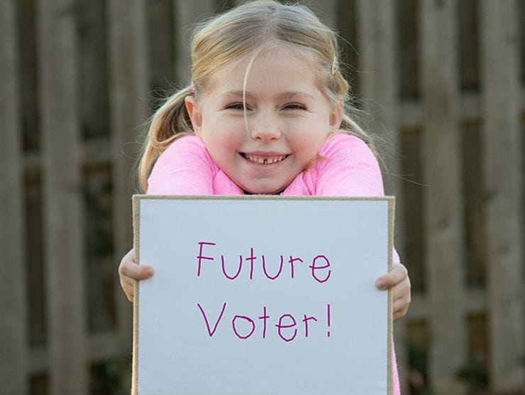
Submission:
<svg viewBox="0 0 525 395">
<path fill-rule="evenodd" d="M 466 360 L 463 317 L 463 210 L 460 188 L 460 103 L 457 2 L 421 2 L 426 284 L 429 294 L 431 386 L 461 392 L 455 375 Z"/>
</svg>

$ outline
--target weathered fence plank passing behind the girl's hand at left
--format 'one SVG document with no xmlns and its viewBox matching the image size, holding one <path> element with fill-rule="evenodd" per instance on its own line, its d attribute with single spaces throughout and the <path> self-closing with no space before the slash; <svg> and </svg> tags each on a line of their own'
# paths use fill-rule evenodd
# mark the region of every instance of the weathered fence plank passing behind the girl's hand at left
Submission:
<svg viewBox="0 0 525 395">
<path fill-rule="evenodd" d="M 111 0 L 108 5 L 111 161 L 113 173 L 114 256 L 116 264 L 131 247 L 133 158 L 138 156 L 137 126 L 148 117 L 149 69 L 145 0 Z M 128 144 L 128 145 L 126 145 Z M 131 149 L 128 149 L 131 147 Z M 126 154 L 128 152 L 128 154 Z M 115 274 L 117 270 L 115 268 Z M 131 355 L 132 310 L 120 283 L 115 283 L 121 350 Z M 126 380 L 126 385 L 129 385 Z"/>
</svg>

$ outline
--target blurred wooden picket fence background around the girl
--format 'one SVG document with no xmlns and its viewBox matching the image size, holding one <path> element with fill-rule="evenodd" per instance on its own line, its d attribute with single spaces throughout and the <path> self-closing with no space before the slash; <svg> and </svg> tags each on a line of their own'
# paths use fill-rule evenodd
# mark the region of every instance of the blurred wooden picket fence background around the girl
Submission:
<svg viewBox="0 0 525 395">
<path fill-rule="evenodd" d="M 127 394 L 133 163 L 240 1 L 0 1 L 0 394 Z M 412 303 L 403 394 L 525 394 L 525 2 L 309 0 L 377 136 Z"/>
</svg>

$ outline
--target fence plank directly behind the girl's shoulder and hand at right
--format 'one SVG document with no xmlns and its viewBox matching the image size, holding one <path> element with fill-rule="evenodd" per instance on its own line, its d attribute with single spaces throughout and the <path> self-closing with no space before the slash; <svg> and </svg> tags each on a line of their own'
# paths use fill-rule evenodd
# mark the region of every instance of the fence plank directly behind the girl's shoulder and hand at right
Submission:
<svg viewBox="0 0 525 395">
<path fill-rule="evenodd" d="M 358 12 L 358 44 L 361 48 L 362 74 L 360 86 L 363 88 L 365 111 L 370 114 L 369 129 L 377 135 L 378 148 L 384 160 L 385 193 L 396 197 L 396 238 L 395 245 L 404 245 L 402 238 L 404 217 L 401 207 L 402 185 L 396 178 L 400 171 L 400 141 L 397 128 L 397 62 L 395 24 L 395 4 L 385 0 L 359 0 Z M 382 143 L 385 141 L 385 144 Z M 402 393 L 407 392 L 408 355 L 404 344 L 406 335 L 405 321 L 395 325 L 394 340 L 396 341 L 397 363 L 402 384 Z"/>
</svg>

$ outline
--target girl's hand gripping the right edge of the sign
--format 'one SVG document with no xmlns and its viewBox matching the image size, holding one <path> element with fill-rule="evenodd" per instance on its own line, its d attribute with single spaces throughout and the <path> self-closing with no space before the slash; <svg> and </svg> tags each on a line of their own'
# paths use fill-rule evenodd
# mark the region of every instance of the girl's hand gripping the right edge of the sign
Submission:
<svg viewBox="0 0 525 395">
<path fill-rule="evenodd" d="M 394 305 L 394 321 L 403 318 L 407 314 L 410 305 L 410 278 L 407 268 L 402 264 L 394 264 L 385 276 L 377 279 L 375 285 L 378 289 L 392 289 L 392 300 Z"/>
</svg>

